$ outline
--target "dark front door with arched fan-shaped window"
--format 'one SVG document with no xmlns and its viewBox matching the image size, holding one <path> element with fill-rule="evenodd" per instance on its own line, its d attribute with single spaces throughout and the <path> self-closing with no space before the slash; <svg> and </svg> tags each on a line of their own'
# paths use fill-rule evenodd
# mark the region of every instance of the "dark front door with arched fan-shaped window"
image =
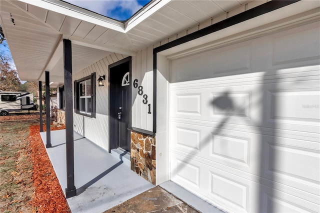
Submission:
<svg viewBox="0 0 320 213">
<path fill-rule="evenodd" d="M 131 59 L 123 60 L 109 66 L 109 144 L 130 151 Z"/>
</svg>

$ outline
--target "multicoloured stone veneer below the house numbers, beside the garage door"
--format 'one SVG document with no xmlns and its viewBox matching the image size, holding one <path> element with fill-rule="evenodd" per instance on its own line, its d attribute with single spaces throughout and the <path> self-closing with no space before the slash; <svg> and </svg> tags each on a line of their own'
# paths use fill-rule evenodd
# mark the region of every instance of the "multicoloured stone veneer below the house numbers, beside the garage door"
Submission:
<svg viewBox="0 0 320 213">
<path fill-rule="evenodd" d="M 131 131 L 131 170 L 155 184 L 155 137 Z"/>
</svg>

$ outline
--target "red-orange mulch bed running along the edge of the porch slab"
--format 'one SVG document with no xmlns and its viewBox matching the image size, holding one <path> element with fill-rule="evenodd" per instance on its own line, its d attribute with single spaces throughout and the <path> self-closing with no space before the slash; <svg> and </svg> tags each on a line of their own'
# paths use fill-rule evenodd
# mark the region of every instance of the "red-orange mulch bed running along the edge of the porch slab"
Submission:
<svg viewBox="0 0 320 213">
<path fill-rule="evenodd" d="M 30 126 L 32 180 L 35 193 L 30 201 L 35 212 L 71 212 L 42 142 L 39 125 Z M 51 130 L 64 129 L 51 126 Z M 43 129 L 45 131 L 45 127 Z"/>
</svg>

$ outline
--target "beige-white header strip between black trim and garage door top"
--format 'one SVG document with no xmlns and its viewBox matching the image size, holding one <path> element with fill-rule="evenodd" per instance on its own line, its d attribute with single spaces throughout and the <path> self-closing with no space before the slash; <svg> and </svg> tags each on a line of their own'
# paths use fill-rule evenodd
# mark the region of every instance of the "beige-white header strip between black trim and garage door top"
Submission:
<svg viewBox="0 0 320 213">
<path fill-rule="evenodd" d="M 247 40 L 261 34 L 270 33 L 279 27 L 292 27 L 300 21 L 320 20 L 320 2 L 315 0 L 298 1 L 280 9 L 237 23 L 222 30 L 163 50 L 159 54 L 168 59 L 184 57 L 196 52 L 218 48 L 230 42 Z"/>
</svg>

